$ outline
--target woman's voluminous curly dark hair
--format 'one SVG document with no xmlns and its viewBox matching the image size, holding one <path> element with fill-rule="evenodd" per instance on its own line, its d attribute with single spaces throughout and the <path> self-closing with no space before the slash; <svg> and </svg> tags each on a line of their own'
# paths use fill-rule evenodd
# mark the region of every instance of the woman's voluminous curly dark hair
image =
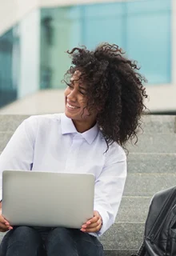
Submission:
<svg viewBox="0 0 176 256">
<path fill-rule="evenodd" d="M 112 142 L 124 147 L 130 138 L 138 141 L 137 128 L 141 126 L 147 95 L 142 85 L 146 79 L 138 74 L 137 63 L 122 56 L 122 49 L 109 43 L 103 43 L 93 51 L 83 46 L 67 53 L 73 66 L 65 77 L 80 71 L 78 79 L 86 85 L 86 107 L 90 113 L 94 109 L 100 110 L 97 123 L 106 140 L 107 150 Z"/>
</svg>

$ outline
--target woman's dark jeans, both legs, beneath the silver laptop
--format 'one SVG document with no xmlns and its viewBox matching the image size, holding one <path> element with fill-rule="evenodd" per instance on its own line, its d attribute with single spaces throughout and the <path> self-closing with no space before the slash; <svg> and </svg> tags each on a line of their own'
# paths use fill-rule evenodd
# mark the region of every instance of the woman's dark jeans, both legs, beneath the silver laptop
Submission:
<svg viewBox="0 0 176 256">
<path fill-rule="evenodd" d="M 66 228 L 14 227 L 2 240 L 0 256 L 103 256 L 98 238 Z"/>
</svg>

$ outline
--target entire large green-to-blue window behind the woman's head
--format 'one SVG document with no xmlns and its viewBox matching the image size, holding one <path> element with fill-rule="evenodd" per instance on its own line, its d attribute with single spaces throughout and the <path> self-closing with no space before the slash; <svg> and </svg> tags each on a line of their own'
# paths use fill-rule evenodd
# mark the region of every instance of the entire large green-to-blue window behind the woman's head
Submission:
<svg viewBox="0 0 176 256">
<path fill-rule="evenodd" d="M 41 87 L 61 88 L 66 50 L 115 43 L 138 61 L 149 83 L 171 79 L 171 0 L 136 0 L 42 9 Z"/>
</svg>

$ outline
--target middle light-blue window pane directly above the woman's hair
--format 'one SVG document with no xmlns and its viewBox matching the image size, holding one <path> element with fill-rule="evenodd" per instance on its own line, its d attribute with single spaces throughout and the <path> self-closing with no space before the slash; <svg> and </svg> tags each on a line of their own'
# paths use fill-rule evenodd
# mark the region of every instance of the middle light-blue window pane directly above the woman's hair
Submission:
<svg viewBox="0 0 176 256">
<path fill-rule="evenodd" d="M 121 2 L 82 6 L 83 44 L 94 49 L 100 42 L 124 45 L 124 5 Z"/>
</svg>

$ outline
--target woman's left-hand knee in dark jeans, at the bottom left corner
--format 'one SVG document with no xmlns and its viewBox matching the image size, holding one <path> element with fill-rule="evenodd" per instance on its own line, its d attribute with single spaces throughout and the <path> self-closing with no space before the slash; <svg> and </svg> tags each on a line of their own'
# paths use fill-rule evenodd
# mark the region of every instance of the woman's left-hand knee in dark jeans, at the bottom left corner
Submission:
<svg viewBox="0 0 176 256">
<path fill-rule="evenodd" d="M 1 256 L 42 256 L 42 238 L 36 230 L 28 226 L 18 226 L 10 230 L 2 239 Z"/>
</svg>

